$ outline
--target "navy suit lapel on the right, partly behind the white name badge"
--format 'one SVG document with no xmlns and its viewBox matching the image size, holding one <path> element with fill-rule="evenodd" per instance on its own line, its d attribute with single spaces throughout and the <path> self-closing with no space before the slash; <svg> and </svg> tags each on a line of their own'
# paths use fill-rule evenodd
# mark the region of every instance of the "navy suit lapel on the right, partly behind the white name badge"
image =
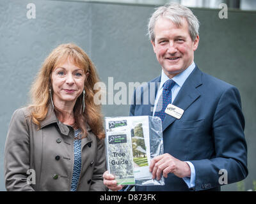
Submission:
<svg viewBox="0 0 256 204">
<path fill-rule="evenodd" d="M 179 108 L 182 108 L 185 113 L 186 109 L 194 101 L 196 101 L 196 99 L 199 98 L 200 93 L 196 88 L 200 85 L 202 85 L 202 71 L 200 71 L 196 66 L 191 75 L 189 75 L 187 80 L 182 85 L 178 95 L 176 96 L 172 104 Z M 177 120 L 175 117 L 166 114 L 163 121 L 163 131 L 168 126 L 170 126 L 175 120 Z"/>
</svg>

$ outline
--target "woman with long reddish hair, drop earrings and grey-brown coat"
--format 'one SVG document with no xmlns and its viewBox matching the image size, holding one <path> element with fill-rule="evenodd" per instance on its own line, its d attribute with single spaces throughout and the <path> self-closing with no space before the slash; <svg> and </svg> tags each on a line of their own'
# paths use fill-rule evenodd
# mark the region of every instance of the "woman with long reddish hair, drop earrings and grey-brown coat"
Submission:
<svg viewBox="0 0 256 204">
<path fill-rule="evenodd" d="M 45 59 L 32 103 L 13 113 L 5 147 L 8 191 L 106 191 L 104 129 L 93 103 L 98 76 L 72 43 Z"/>
</svg>

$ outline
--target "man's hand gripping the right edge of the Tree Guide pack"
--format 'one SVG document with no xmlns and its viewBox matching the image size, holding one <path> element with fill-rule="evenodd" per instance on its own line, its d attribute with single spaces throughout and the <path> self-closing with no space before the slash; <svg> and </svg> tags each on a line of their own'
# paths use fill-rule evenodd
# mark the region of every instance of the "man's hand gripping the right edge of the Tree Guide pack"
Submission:
<svg viewBox="0 0 256 204">
<path fill-rule="evenodd" d="M 149 171 L 152 172 L 152 179 L 157 178 L 157 180 L 161 178 L 162 173 L 164 178 L 168 177 L 168 173 L 174 173 L 179 178 L 191 175 L 189 164 L 167 153 L 154 157 L 151 160 Z"/>
</svg>

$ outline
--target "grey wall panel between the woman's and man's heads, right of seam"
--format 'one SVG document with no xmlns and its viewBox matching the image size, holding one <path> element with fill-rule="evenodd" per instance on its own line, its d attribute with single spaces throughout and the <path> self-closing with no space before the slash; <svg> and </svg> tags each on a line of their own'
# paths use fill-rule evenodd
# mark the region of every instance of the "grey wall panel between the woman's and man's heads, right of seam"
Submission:
<svg viewBox="0 0 256 204">
<path fill-rule="evenodd" d="M 100 77 L 107 87 L 111 87 L 109 77 L 114 84 L 124 82 L 127 85 L 127 99 L 124 99 L 127 105 L 108 103 L 103 111 L 106 116 L 127 115 L 129 91 L 133 92 L 128 89 L 129 82 L 148 82 L 161 70 L 147 39 L 147 20 L 153 8 L 93 4 L 92 11 L 92 59 Z M 114 96 L 120 89 L 113 91 Z"/>
</svg>

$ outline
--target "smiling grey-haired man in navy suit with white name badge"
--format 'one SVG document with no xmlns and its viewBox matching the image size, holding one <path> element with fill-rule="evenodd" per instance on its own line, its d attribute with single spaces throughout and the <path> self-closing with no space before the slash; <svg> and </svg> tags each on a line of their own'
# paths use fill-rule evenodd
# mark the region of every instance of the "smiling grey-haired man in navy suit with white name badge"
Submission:
<svg viewBox="0 0 256 204">
<path fill-rule="evenodd" d="M 130 115 L 163 121 L 164 154 L 152 159 L 150 171 L 153 179 L 166 179 L 164 186 L 136 186 L 136 191 L 220 191 L 221 184 L 248 175 L 239 91 L 196 66 L 198 29 L 195 15 L 180 4 L 161 6 L 150 18 L 148 33 L 162 73 L 147 89 L 136 91 L 148 94 L 150 83 L 160 86 L 154 105 L 143 103 L 143 96 L 138 99 L 134 92 Z M 180 108 L 178 115 L 171 108 Z M 226 181 L 220 178 L 223 173 Z M 121 188 L 108 172 L 104 184 Z"/>
</svg>

